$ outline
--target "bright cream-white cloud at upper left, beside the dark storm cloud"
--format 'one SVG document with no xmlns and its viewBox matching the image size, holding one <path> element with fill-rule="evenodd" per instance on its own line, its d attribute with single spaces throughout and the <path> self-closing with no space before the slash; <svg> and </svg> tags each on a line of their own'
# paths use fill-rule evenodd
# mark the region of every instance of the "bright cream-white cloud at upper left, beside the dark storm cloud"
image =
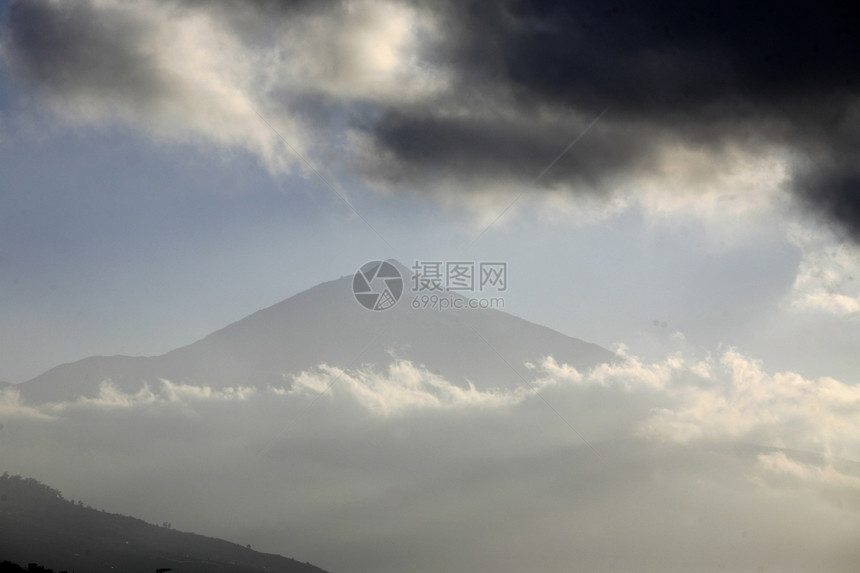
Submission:
<svg viewBox="0 0 860 573">
<path fill-rule="evenodd" d="M 433 20 L 417 8 L 356 0 L 268 21 L 260 13 L 246 23 L 253 35 L 241 25 L 248 11 L 209 8 L 40 0 L 36 25 L 66 45 L 35 56 L 27 50 L 40 46 L 7 45 L 6 59 L 71 124 L 120 123 L 159 140 L 245 150 L 273 172 L 306 170 L 290 146 L 313 160 L 329 145 L 296 110 L 308 101 L 408 102 L 445 84 L 420 61 L 418 36 L 433 34 Z"/>
</svg>

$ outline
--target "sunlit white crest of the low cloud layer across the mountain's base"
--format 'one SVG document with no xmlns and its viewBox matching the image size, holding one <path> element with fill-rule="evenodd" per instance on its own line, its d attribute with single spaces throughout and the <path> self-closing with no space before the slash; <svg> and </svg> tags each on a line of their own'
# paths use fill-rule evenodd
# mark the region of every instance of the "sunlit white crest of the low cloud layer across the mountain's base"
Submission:
<svg viewBox="0 0 860 573">
<path fill-rule="evenodd" d="M 305 407 L 325 397 L 336 410 L 360 410 L 374 416 L 403 418 L 416 411 L 513 411 L 540 407 L 538 394 L 558 411 L 593 423 L 584 427 L 594 440 L 618 437 L 690 443 L 755 443 L 808 450 L 827 456 L 860 458 L 860 388 L 833 378 L 807 379 L 793 372 L 767 372 L 734 349 L 718 357 L 673 354 L 643 362 L 620 350 L 622 360 L 580 372 L 551 356 L 525 366 L 537 374 L 529 385 L 512 390 L 480 391 L 461 387 L 408 360 L 395 360 L 384 371 L 371 367 L 342 369 L 322 364 L 293 377 L 289 389 L 246 387 L 213 389 L 162 380 L 157 389 L 143 386 L 129 394 L 109 381 L 95 398 L 24 406 L 14 389 L 0 396 L 2 411 L 31 418 L 74 416 L 78 411 L 179 407 L 199 412 L 209 403 L 255 408 L 260 400 Z M 594 412 L 588 400 L 600 392 L 614 406 Z M 605 398 L 604 398 L 605 399 Z M 544 410 L 544 414 L 548 411 Z M 599 414 L 598 418 L 592 418 Z M 632 425 L 631 425 L 632 424 Z M 594 432 L 597 432 L 596 434 Z M 628 431 L 628 430 L 624 430 Z M 605 432 L 606 435 L 601 435 Z"/>
</svg>

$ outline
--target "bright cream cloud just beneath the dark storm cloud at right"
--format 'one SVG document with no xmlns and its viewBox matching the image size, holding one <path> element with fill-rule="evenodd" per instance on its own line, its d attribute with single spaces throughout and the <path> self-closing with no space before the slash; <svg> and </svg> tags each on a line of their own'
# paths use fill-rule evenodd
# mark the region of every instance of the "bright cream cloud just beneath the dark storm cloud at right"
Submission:
<svg viewBox="0 0 860 573">
<path fill-rule="evenodd" d="M 587 146 L 587 139 L 581 145 Z M 695 226 L 712 245 L 731 247 L 784 217 L 791 154 L 778 146 L 726 144 L 721 149 L 653 142 L 653 162 L 612 180 L 609 200 L 557 188 L 536 211 L 555 223 L 593 223 L 630 209 L 653 225 Z"/>
</svg>

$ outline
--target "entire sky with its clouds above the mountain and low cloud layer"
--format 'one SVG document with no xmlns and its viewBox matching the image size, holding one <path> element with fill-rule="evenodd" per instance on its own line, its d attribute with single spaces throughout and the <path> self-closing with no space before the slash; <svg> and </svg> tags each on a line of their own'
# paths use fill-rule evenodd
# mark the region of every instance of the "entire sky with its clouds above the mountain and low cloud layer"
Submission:
<svg viewBox="0 0 860 573">
<path fill-rule="evenodd" d="M 509 311 L 607 346 L 857 374 L 837 7 L 4 5 L 0 379 L 387 257 L 505 260 Z"/>
</svg>

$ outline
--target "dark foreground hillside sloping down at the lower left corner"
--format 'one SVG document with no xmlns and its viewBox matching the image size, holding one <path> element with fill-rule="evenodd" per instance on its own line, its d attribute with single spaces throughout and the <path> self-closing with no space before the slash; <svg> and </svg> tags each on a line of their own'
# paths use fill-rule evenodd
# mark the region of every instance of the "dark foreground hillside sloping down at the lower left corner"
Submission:
<svg viewBox="0 0 860 573">
<path fill-rule="evenodd" d="M 75 505 L 33 479 L 0 477 L 0 561 L 88 573 L 325 573 L 294 559 Z"/>
</svg>

